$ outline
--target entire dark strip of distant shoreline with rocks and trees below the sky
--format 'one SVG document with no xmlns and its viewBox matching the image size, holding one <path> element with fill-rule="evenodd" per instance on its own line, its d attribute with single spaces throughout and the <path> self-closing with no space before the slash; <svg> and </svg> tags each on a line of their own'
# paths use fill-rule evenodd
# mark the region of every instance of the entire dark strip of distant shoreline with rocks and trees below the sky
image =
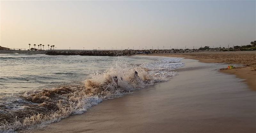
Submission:
<svg viewBox="0 0 256 133">
<path fill-rule="evenodd" d="M 136 54 L 172 54 L 172 53 L 197 53 L 197 52 L 222 52 L 222 51 L 255 51 L 256 41 L 251 42 L 252 45 L 246 46 L 234 46 L 230 48 L 217 47 L 210 48 L 209 46 L 201 47 L 199 49 L 124 49 L 124 50 L 10 50 L 5 48 L 0 50 L 0 53 L 12 54 L 47 54 L 47 55 L 84 55 L 84 56 L 126 56 L 126 55 L 136 55 Z M 39 48 L 39 45 L 38 45 Z M 7 50 L 8 49 L 8 50 Z"/>
</svg>

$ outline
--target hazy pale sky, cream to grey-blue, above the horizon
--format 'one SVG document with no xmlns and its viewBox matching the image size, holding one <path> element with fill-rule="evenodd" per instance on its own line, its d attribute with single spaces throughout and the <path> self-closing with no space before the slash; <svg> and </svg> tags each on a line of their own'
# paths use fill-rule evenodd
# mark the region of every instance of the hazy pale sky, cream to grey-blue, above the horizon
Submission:
<svg viewBox="0 0 256 133">
<path fill-rule="evenodd" d="M 254 40 L 254 0 L 0 1 L 0 45 L 10 48 L 184 49 Z"/>
</svg>

